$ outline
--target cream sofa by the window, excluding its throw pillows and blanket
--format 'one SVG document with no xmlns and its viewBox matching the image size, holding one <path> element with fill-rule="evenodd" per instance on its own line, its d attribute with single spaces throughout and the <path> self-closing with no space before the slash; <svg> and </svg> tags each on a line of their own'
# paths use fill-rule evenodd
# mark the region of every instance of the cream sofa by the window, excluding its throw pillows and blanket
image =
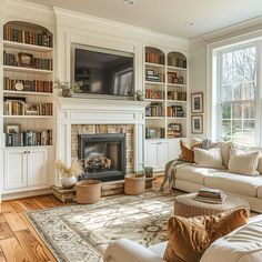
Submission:
<svg viewBox="0 0 262 262">
<path fill-rule="evenodd" d="M 225 169 L 200 168 L 195 164 L 182 164 L 175 168 L 173 188 L 185 192 L 195 192 L 202 187 L 221 189 L 246 199 L 251 210 L 262 212 L 262 157 L 260 157 L 258 164 L 259 175 L 231 173 L 226 169 L 231 147 L 230 142 L 222 144 L 222 159 Z M 261 149 L 241 147 L 241 150 L 249 152 Z"/>
</svg>

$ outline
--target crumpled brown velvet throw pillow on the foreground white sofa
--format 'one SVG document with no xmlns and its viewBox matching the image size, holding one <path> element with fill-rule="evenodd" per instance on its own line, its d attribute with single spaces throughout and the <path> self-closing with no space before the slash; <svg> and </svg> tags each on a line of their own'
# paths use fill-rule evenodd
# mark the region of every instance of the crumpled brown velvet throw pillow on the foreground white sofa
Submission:
<svg viewBox="0 0 262 262">
<path fill-rule="evenodd" d="M 245 209 L 189 219 L 174 215 L 168 223 L 169 243 L 164 260 L 199 262 L 213 241 L 246 224 L 248 219 L 249 212 Z"/>
</svg>

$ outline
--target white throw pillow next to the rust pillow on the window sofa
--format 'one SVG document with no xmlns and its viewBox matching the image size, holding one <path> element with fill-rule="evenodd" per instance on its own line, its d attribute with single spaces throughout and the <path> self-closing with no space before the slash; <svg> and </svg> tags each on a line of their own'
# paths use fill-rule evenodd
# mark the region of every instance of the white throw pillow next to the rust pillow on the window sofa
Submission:
<svg viewBox="0 0 262 262">
<path fill-rule="evenodd" d="M 194 149 L 194 162 L 198 167 L 224 169 L 222 164 L 221 148 L 210 150 Z"/>
</svg>

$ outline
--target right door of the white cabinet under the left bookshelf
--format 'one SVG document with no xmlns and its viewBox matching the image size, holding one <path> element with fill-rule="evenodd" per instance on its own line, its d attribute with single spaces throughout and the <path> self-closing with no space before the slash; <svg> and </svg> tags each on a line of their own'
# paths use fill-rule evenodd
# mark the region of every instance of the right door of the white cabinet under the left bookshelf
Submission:
<svg viewBox="0 0 262 262">
<path fill-rule="evenodd" d="M 48 150 L 28 151 L 28 187 L 48 185 Z"/>
</svg>

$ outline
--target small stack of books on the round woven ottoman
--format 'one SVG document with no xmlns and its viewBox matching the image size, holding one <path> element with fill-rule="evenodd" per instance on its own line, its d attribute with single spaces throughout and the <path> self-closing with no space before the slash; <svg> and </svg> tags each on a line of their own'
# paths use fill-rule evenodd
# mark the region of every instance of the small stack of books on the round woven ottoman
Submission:
<svg viewBox="0 0 262 262">
<path fill-rule="evenodd" d="M 195 200 L 206 202 L 206 203 L 222 204 L 225 198 L 226 195 L 224 194 L 222 190 L 202 188 L 199 190 L 199 193 L 196 194 Z"/>
</svg>

